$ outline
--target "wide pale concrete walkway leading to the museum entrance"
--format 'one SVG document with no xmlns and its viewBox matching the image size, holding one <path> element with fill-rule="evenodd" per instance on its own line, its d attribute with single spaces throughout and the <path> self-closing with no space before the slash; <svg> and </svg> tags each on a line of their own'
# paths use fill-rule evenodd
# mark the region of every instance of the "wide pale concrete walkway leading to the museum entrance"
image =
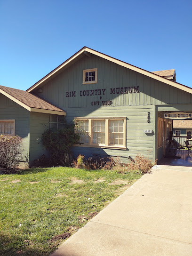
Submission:
<svg viewBox="0 0 192 256">
<path fill-rule="evenodd" d="M 51 256 L 191 256 L 192 167 L 155 166 Z"/>
</svg>

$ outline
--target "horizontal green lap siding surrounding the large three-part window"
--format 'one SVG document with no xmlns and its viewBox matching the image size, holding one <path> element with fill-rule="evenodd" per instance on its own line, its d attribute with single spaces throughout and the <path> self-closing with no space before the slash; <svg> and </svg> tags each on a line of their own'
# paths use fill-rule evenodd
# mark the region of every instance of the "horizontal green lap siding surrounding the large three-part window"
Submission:
<svg viewBox="0 0 192 256">
<path fill-rule="evenodd" d="M 114 114 L 115 112 L 115 114 Z M 151 123 L 147 122 L 147 115 L 150 112 Z M 80 111 L 80 109 L 71 108 L 67 110 L 66 119 L 72 120 L 74 116 L 78 117 L 122 117 L 127 118 L 126 122 L 126 146 L 127 150 L 109 149 L 109 148 L 94 148 L 94 147 L 73 147 L 74 155 L 83 154 L 86 157 L 94 156 L 95 154 L 106 156 L 121 156 L 123 160 L 127 161 L 128 156 L 135 157 L 137 154 L 142 154 L 145 157 L 153 159 L 153 136 L 144 133 L 144 129 L 153 128 L 153 106 L 134 106 L 134 107 L 119 107 L 116 108 L 100 108 L 98 110 L 88 109 Z"/>
</svg>

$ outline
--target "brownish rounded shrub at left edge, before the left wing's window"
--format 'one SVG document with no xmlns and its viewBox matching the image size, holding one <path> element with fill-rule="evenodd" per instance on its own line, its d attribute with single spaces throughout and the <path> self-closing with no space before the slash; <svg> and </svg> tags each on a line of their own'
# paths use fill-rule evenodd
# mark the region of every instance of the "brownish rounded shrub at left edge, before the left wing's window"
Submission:
<svg viewBox="0 0 192 256">
<path fill-rule="evenodd" d="M 22 152 L 21 137 L 0 135 L 0 167 L 7 169 L 18 167 Z"/>
</svg>

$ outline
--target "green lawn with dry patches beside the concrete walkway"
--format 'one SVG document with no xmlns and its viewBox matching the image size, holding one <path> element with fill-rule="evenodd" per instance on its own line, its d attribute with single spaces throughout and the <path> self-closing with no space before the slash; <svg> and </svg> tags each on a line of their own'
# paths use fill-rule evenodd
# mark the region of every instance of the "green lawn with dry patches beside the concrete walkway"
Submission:
<svg viewBox="0 0 192 256">
<path fill-rule="evenodd" d="M 48 256 L 140 176 L 64 167 L 0 175 L 0 256 Z"/>
</svg>

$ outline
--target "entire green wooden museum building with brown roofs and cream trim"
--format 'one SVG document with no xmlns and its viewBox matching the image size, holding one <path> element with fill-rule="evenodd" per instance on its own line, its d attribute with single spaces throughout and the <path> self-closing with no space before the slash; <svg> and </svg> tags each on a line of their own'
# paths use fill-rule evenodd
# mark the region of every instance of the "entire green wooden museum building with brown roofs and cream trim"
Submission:
<svg viewBox="0 0 192 256">
<path fill-rule="evenodd" d="M 86 131 L 74 156 L 160 160 L 173 112 L 192 112 L 192 88 L 176 82 L 175 70 L 148 72 L 87 47 L 27 91 L 0 86 L 0 134 L 23 137 L 29 165 L 47 153 L 41 134 L 60 116 Z"/>
</svg>

